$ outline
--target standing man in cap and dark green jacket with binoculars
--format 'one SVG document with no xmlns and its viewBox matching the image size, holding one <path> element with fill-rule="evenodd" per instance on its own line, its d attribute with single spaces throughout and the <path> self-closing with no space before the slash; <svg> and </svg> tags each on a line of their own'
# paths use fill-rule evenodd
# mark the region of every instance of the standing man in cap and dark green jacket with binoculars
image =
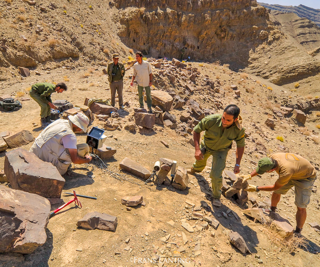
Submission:
<svg viewBox="0 0 320 267">
<path fill-rule="evenodd" d="M 111 106 L 115 106 L 116 91 L 118 92 L 119 107 L 123 106 L 123 76 L 125 74 L 124 65 L 119 62 L 119 54 L 112 55 L 113 62 L 108 65 L 108 81 L 111 91 Z"/>
</svg>

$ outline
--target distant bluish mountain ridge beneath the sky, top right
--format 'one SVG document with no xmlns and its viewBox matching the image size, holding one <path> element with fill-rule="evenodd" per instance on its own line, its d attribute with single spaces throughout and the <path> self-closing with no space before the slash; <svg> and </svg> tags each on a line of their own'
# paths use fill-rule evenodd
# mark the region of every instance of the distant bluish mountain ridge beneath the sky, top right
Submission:
<svg viewBox="0 0 320 267">
<path fill-rule="evenodd" d="M 266 8 L 271 10 L 278 10 L 281 12 L 292 12 L 297 14 L 300 18 L 307 18 L 308 20 L 312 20 L 318 26 L 320 26 L 320 9 L 314 9 L 312 7 L 308 7 L 305 5 L 298 5 L 298 6 L 284 6 L 284 5 L 272 5 L 272 4 L 265 4 L 265 3 L 258 3 Z"/>
</svg>

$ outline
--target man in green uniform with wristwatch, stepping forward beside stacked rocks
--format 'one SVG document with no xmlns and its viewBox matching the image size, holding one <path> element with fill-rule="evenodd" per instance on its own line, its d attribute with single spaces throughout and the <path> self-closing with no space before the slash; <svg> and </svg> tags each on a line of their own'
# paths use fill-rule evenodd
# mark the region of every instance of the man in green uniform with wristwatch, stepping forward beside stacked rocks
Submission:
<svg viewBox="0 0 320 267">
<path fill-rule="evenodd" d="M 240 109 L 236 105 L 228 105 L 223 114 L 213 114 L 204 117 L 193 129 L 195 142 L 195 158 L 188 174 L 201 172 L 207 165 L 207 160 L 212 155 L 212 167 L 210 172 L 212 185 L 212 205 L 221 206 L 222 171 L 226 167 L 228 151 L 235 140 L 236 165 L 235 174 L 240 172 L 240 162 L 244 152 L 244 128 L 241 125 Z M 204 131 L 204 140 L 200 143 L 201 132 Z"/>
</svg>

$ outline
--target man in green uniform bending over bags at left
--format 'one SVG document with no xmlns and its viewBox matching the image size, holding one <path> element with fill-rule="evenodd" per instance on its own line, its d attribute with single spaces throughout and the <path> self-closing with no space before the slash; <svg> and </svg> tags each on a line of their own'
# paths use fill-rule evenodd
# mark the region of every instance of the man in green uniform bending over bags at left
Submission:
<svg viewBox="0 0 320 267">
<path fill-rule="evenodd" d="M 60 82 L 56 85 L 47 82 L 38 82 L 31 86 L 29 95 L 38 103 L 41 108 L 40 122 L 42 126 L 46 126 L 48 123 L 51 123 L 51 109 L 57 109 L 57 107 L 52 104 L 51 94 L 54 92 L 59 94 L 66 90 L 67 85 L 64 82 Z"/>
</svg>

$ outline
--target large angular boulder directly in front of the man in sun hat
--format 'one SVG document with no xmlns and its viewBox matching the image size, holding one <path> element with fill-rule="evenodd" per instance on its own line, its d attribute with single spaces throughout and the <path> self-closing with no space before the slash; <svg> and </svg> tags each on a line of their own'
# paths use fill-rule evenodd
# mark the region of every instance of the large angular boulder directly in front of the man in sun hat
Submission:
<svg viewBox="0 0 320 267">
<path fill-rule="evenodd" d="M 13 189 L 45 198 L 60 198 L 65 184 L 56 167 L 22 148 L 5 154 L 4 173 Z"/>
</svg>

